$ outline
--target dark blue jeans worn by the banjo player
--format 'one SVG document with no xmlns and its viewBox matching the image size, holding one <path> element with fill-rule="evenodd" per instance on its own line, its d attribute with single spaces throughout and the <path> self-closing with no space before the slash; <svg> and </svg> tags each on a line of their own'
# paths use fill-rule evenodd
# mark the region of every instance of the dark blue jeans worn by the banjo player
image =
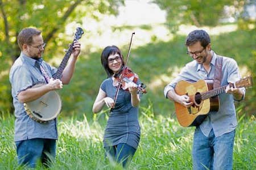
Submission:
<svg viewBox="0 0 256 170">
<path fill-rule="evenodd" d="M 35 168 L 38 160 L 44 164 L 51 162 L 52 159 L 55 159 L 55 139 L 35 138 L 17 141 L 15 144 L 19 164 L 26 164 L 30 168 Z"/>
</svg>

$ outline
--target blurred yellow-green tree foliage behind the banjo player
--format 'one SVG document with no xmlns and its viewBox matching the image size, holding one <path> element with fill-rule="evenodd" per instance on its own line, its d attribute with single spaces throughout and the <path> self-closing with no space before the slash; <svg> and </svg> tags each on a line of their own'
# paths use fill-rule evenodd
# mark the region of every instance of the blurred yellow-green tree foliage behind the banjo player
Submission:
<svg viewBox="0 0 256 170">
<path fill-rule="evenodd" d="M 47 43 L 47 58 L 44 59 L 51 59 L 63 49 L 57 44 L 66 39 L 65 36 L 59 37 L 59 33 L 65 32 L 65 25 L 70 22 L 81 24 L 83 16 L 97 19 L 93 11 L 117 14 L 117 7 L 122 3 L 114 0 L 0 0 L 0 112 L 13 111 L 9 70 L 20 54 L 16 39 L 19 31 L 25 27 L 43 31 L 43 39 Z"/>
</svg>

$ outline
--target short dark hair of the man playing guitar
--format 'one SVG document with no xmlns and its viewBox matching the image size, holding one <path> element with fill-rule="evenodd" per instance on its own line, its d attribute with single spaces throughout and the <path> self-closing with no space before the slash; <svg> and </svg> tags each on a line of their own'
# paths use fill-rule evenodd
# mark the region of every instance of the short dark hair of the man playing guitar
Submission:
<svg viewBox="0 0 256 170">
<path fill-rule="evenodd" d="M 206 48 L 207 45 L 210 43 L 210 36 L 206 31 L 196 29 L 195 31 L 192 31 L 188 34 L 185 45 L 191 46 L 198 41 L 201 43 L 201 46 Z"/>
</svg>

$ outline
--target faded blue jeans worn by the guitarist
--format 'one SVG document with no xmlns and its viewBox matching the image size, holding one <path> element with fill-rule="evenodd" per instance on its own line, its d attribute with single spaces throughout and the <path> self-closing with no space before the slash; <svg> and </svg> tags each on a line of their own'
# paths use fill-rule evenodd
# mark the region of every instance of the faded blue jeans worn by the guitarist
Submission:
<svg viewBox="0 0 256 170">
<path fill-rule="evenodd" d="M 233 130 L 216 138 L 211 130 L 205 137 L 197 127 L 192 148 L 193 169 L 232 169 L 235 133 Z"/>
</svg>

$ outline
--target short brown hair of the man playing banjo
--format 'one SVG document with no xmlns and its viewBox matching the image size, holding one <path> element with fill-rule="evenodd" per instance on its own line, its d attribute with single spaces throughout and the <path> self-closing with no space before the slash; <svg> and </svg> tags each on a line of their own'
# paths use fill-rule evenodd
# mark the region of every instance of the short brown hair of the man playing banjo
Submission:
<svg viewBox="0 0 256 170">
<path fill-rule="evenodd" d="M 33 36 L 38 36 L 41 34 L 41 31 L 35 28 L 24 28 L 20 31 L 18 35 L 18 45 L 20 50 L 23 50 L 23 44 L 32 44 Z"/>
</svg>

